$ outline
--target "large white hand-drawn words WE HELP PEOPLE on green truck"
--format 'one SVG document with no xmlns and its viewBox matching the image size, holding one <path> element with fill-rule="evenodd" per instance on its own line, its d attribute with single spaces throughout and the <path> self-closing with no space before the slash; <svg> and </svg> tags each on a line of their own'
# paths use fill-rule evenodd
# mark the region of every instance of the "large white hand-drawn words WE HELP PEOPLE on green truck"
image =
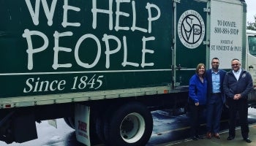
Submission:
<svg viewBox="0 0 256 146">
<path fill-rule="evenodd" d="M 48 4 L 45 0 L 37 0 L 36 1 L 36 4 L 35 4 L 35 8 L 33 10 L 32 6 L 31 6 L 31 1 L 29 0 L 26 0 L 26 4 L 27 4 L 27 7 L 29 9 L 29 12 L 31 14 L 31 18 L 33 20 L 33 23 L 34 25 L 39 25 L 39 2 L 42 1 L 42 5 L 43 5 L 43 8 L 44 8 L 44 12 L 45 12 L 45 15 L 47 16 L 48 18 L 48 25 L 51 26 L 53 20 L 53 15 L 54 15 L 54 9 L 56 7 L 56 1 L 53 1 L 52 4 L 51 4 L 51 7 L 50 7 L 50 10 L 49 10 L 49 7 L 48 7 Z M 121 12 L 120 11 L 120 6 L 119 4 L 121 4 L 122 2 L 130 2 L 130 1 L 116 1 L 117 2 L 117 14 L 116 15 L 116 20 L 118 20 L 118 18 L 121 16 L 121 15 L 124 15 L 126 17 L 129 17 L 129 14 L 127 13 L 124 13 L 124 12 Z M 106 9 L 97 9 L 96 7 L 96 0 L 93 0 L 93 6 L 92 6 L 92 9 L 91 9 L 91 12 L 93 14 L 93 22 L 92 22 L 92 27 L 94 29 L 97 28 L 97 13 L 98 12 L 102 12 L 102 13 L 107 13 L 109 15 L 109 29 L 112 30 L 113 29 L 113 12 L 112 12 L 112 3 L 113 1 L 110 0 L 109 1 L 109 9 L 106 10 Z M 68 23 L 67 22 L 67 9 L 72 9 L 72 10 L 75 10 L 76 12 L 79 12 L 80 9 L 78 9 L 77 7 L 71 7 L 68 5 L 68 0 L 64 0 L 64 18 L 63 18 L 63 22 L 62 22 L 62 26 L 63 27 L 67 27 L 67 26 L 80 26 L 80 23 Z M 160 9 L 159 7 L 157 7 L 157 5 L 155 4 L 149 4 L 147 3 L 146 5 L 146 9 L 148 9 L 148 29 L 145 29 L 145 28 L 139 28 L 137 26 L 135 26 L 136 24 L 136 12 L 135 12 L 135 1 L 132 1 L 132 15 L 133 15 L 133 22 L 132 22 L 132 28 L 131 30 L 132 31 L 135 31 L 135 30 L 138 30 L 138 31 L 143 31 L 143 32 L 148 32 L 148 33 L 151 33 L 151 23 L 154 21 L 154 20 L 157 20 L 159 19 L 160 15 L 161 15 L 161 12 L 160 12 Z M 154 9 L 157 11 L 157 15 L 155 17 L 152 16 L 151 14 L 151 9 Z M 128 31 L 129 30 L 129 27 L 127 28 L 126 27 L 121 27 L 119 26 L 119 23 L 116 22 L 116 31 L 119 31 L 119 30 L 126 30 Z M 42 39 L 44 40 L 44 44 L 42 45 L 42 47 L 39 47 L 39 48 L 33 48 L 33 41 L 31 39 L 31 35 L 37 35 L 39 37 L 42 37 Z M 53 34 L 53 37 L 54 37 L 54 55 L 53 55 L 53 69 L 58 69 L 58 68 L 69 68 L 69 67 L 72 67 L 72 64 L 59 64 L 59 61 L 58 61 L 58 57 L 59 57 L 59 51 L 64 51 L 64 52 L 72 52 L 72 48 L 67 48 L 67 47 L 59 47 L 59 39 L 61 39 L 60 37 L 70 37 L 72 36 L 72 32 L 71 31 L 68 31 L 68 32 L 55 32 Z M 111 36 L 111 37 L 110 37 Z M 43 50 L 47 49 L 48 48 L 48 37 L 43 34 L 42 32 L 40 31 L 29 31 L 29 29 L 26 29 L 24 31 L 24 34 L 23 34 L 23 37 L 26 38 L 27 40 L 27 43 L 28 43 L 28 50 L 27 50 L 27 53 L 28 53 L 28 69 L 29 70 L 32 70 L 33 67 L 34 67 L 34 64 L 33 64 L 33 61 L 34 61 L 34 58 L 33 58 L 33 55 L 34 53 L 39 53 L 39 52 L 42 52 Z M 108 38 L 110 37 L 110 38 Z M 87 39 L 87 38 L 91 38 L 91 39 L 94 39 L 96 42 L 97 42 L 97 56 L 94 60 L 94 63 L 92 64 L 86 64 L 86 63 L 83 63 L 82 61 L 80 61 L 80 58 L 79 58 L 79 54 L 78 54 L 78 50 L 79 50 L 79 47 L 81 45 L 81 43 L 83 42 L 84 39 Z M 125 38 L 125 39 L 124 39 Z M 152 38 L 154 37 L 148 37 L 150 39 L 146 39 L 146 38 L 142 38 L 141 42 L 143 43 L 143 48 L 142 48 L 142 55 L 141 55 L 141 58 L 142 58 L 142 61 L 140 62 L 141 63 L 141 67 L 144 68 L 145 66 L 154 66 L 154 63 L 146 63 L 146 53 L 154 53 L 154 50 L 146 50 L 145 46 L 146 46 L 146 42 L 148 42 L 149 40 L 154 40 Z M 113 39 L 115 40 L 117 43 L 118 43 L 118 47 L 115 49 L 115 50 L 110 50 L 110 45 L 108 43 L 108 39 Z M 105 66 L 106 66 L 106 69 L 108 69 L 110 67 L 110 55 L 114 54 L 114 53 L 117 53 L 119 50 L 121 50 L 121 40 L 118 39 L 118 37 L 115 37 L 115 36 L 112 36 L 112 35 L 107 35 L 107 34 L 104 34 L 102 40 L 105 42 L 105 48 L 106 48 L 106 51 L 105 51 L 105 55 L 106 55 L 106 63 L 105 63 Z M 124 60 L 123 62 L 121 63 L 122 66 L 137 66 L 138 67 L 138 63 L 132 63 L 132 62 L 127 62 L 127 37 L 124 36 L 123 37 L 123 49 L 124 49 Z M 101 54 L 101 46 L 100 46 L 100 43 L 99 43 L 99 39 L 94 36 L 94 34 L 84 34 L 82 37 L 80 37 L 80 39 L 78 39 L 78 42 L 77 44 L 75 45 L 75 61 L 77 61 L 77 64 L 84 67 L 84 68 L 93 68 L 94 66 L 97 65 L 97 62 L 99 61 L 99 57 L 100 57 L 100 54 Z"/>
</svg>

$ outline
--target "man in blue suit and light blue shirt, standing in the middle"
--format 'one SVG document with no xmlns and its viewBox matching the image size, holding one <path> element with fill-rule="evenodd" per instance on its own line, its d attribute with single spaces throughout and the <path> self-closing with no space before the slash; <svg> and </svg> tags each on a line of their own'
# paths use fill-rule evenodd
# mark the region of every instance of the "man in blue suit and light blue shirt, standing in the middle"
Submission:
<svg viewBox="0 0 256 146">
<path fill-rule="evenodd" d="M 223 80 L 226 72 L 219 69 L 219 58 L 211 60 L 211 69 L 206 71 L 208 82 L 208 96 L 206 104 L 206 137 L 216 137 L 219 139 L 219 125 L 222 115 L 222 107 L 225 103 L 225 93 L 223 91 Z"/>
</svg>

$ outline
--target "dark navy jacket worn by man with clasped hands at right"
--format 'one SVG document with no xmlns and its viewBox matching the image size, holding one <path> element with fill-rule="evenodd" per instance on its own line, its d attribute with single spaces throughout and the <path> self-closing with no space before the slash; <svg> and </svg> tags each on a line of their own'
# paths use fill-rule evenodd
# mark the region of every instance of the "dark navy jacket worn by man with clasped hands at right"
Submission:
<svg viewBox="0 0 256 146">
<path fill-rule="evenodd" d="M 246 99 L 250 91 L 252 91 L 252 76 L 249 72 L 242 69 L 240 77 L 236 80 L 232 70 L 227 72 L 224 81 L 223 89 L 227 98 L 233 99 L 235 94 L 241 93 L 241 98 Z"/>
</svg>

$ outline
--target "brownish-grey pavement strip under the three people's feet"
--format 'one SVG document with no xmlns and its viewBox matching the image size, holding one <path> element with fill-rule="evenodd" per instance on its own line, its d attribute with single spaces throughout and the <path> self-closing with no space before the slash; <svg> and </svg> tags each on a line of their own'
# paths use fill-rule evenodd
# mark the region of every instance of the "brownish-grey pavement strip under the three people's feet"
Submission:
<svg viewBox="0 0 256 146">
<path fill-rule="evenodd" d="M 206 135 L 203 135 L 204 139 L 199 139 L 194 141 L 192 139 L 183 139 L 174 142 L 168 142 L 165 144 L 157 145 L 157 146 L 256 146 L 256 125 L 249 125 L 249 139 L 252 140 L 251 143 L 247 143 L 243 140 L 241 136 L 240 126 L 236 127 L 236 137 L 233 140 L 227 140 L 228 131 L 221 131 L 219 133 L 220 139 L 212 137 L 211 139 L 207 139 Z"/>
</svg>

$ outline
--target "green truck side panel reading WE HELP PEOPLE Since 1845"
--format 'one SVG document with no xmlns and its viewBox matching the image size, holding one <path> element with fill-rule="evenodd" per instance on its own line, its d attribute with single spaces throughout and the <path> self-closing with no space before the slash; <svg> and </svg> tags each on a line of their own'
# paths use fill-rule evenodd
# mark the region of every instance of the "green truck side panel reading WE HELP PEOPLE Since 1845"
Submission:
<svg viewBox="0 0 256 146">
<path fill-rule="evenodd" d="M 0 97 L 169 85 L 172 5 L 0 1 Z"/>
</svg>

